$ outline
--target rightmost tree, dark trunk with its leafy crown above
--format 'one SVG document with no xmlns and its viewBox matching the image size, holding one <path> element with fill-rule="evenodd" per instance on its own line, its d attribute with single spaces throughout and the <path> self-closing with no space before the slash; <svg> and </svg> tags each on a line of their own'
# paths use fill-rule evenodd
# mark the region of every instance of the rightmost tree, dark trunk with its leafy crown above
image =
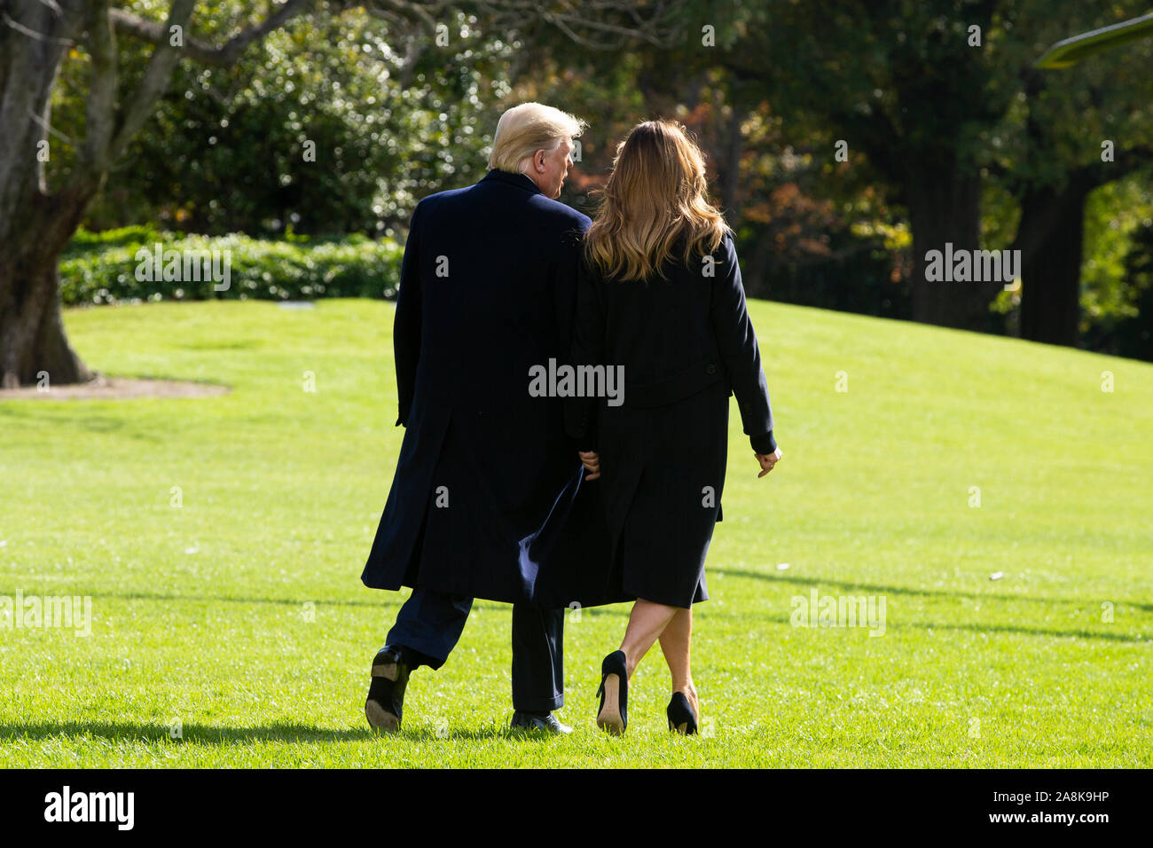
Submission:
<svg viewBox="0 0 1153 848">
<path fill-rule="evenodd" d="M 1060 23 L 1050 20 L 1048 2 L 1037 0 L 1026 8 L 1033 42 L 1043 43 L 1078 25 L 1116 23 L 1140 6 L 1077 9 L 1080 20 L 1063 17 Z M 1003 156 L 992 171 L 1020 209 L 1012 243 L 1023 264 L 1020 337 L 1076 346 L 1086 201 L 1097 188 L 1153 162 L 1153 43 L 1047 72 L 1033 67 L 1033 44 L 1020 44 L 1018 52 L 1022 96 L 1003 134 Z"/>
</svg>

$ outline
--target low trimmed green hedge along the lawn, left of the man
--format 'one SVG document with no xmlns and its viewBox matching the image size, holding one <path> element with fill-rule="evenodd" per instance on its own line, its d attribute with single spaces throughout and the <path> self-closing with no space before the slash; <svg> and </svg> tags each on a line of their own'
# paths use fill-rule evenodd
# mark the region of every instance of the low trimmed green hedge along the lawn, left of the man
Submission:
<svg viewBox="0 0 1153 848">
<path fill-rule="evenodd" d="M 140 280 L 137 268 L 151 263 L 155 245 L 164 252 L 221 252 L 229 257 L 229 287 L 217 292 L 211 280 Z M 138 254 L 140 250 L 144 254 Z M 224 252 L 227 252 L 225 254 Z M 176 235 L 152 227 L 103 233 L 81 230 L 60 262 L 60 291 L 67 306 L 157 300 L 240 299 L 311 300 L 315 298 L 393 298 L 404 248 L 364 235 L 285 240 Z"/>
</svg>

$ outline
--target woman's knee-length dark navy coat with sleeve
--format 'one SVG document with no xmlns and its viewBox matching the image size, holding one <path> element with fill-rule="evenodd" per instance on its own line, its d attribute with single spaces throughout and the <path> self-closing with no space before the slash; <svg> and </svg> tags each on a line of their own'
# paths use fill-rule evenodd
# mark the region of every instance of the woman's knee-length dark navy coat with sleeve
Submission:
<svg viewBox="0 0 1153 848">
<path fill-rule="evenodd" d="M 753 450 L 771 453 L 773 411 L 737 248 L 683 248 L 664 279 L 606 280 L 582 265 L 572 361 L 624 369 L 624 398 L 566 402 L 570 434 L 601 458 L 609 585 L 675 607 L 706 600 L 704 557 L 722 519 L 729 398 Z M 752 457 L 745 470 L 756 468 Z"/>
</svg>

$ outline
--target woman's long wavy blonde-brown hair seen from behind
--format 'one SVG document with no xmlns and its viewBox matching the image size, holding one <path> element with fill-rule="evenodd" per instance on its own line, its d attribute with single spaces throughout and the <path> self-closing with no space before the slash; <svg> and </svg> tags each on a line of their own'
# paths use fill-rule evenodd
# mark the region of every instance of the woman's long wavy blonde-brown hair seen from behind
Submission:
<svg viewBox="0 0 1153 848">
<path fill-rule="evenodd" d="M 678 121 L 646 121 L 617 145 L 603 203 L 585 234 L 588 263 L 610 279 L 664 277 L 679 240 L 685 263 L 713 253 L 729 226 L 708 200 L 704 156 Z"/>
</svg>

